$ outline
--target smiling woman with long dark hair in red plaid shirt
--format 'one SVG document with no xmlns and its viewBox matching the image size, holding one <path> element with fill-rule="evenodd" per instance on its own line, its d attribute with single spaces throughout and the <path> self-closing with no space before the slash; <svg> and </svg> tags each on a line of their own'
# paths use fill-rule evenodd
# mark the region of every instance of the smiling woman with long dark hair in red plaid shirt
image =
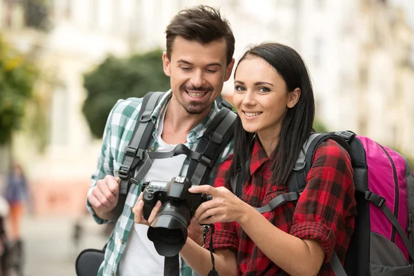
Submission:
<svg viewBox="0 0 414 276">
<path fill-rule="evenodd" d="M 220 275 L 334 275 L 329 259 L 335 250 L 344 262 L 356 213 L 351 159 L 336 142 L 317 148 L 297 204 L 264 214 L 254 208 L 288 193 L 289 174 L 313 131 L 313 90 L 301 57 L 277 43 L 248 50 L 235 70 L 233 103 L 239 115 L 235 153 L 217 168 L 214 188 L 190 189 L 213 196 L 199 206 L 193 222 L 214 224 L 215 233 L 207 235 L 206 248 L 188 238 L 180 255 L 207 275 L 213 239 Z M 241 199 L 230 191 L 239 168 L 247 179 Z M 148 224 L 141 208 L 139 199 L 135 221 Z"/>
</svg>

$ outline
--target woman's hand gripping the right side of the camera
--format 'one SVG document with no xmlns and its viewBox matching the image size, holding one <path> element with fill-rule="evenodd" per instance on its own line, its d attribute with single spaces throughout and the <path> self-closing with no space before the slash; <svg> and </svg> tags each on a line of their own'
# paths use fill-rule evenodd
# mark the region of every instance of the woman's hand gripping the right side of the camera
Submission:
<svg viewBox="0 0 414 276">
<path fill-rule="evenodd" d="M 216 222 L 240 222 L 246 216 L 248 204 L 239 199 L 230 190 L 224 187 L 214 188 L 201 185 L 190 188 L 190 193 L 206 193 L 213 199 L 206 201 L 197 208 L 193 222 L 199 224 L 215 224 Z"/>
</svg>

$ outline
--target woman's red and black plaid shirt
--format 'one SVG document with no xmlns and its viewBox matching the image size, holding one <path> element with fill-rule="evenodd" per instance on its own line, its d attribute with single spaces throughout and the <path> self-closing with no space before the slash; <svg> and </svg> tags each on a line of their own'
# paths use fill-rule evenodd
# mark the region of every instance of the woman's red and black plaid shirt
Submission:
<svg viewBox="0 0 414 276">
<path fill-rule="evenodd" d="M 261 207 L 273 198 L 288 193 L 286 184 L 270 184 L 270 162 L 256 139 L 250 165 L 250 182 L 243 188 L 243 201 Z M 232 159 L 217 168 L 215 187 L 224 183 Z M 329 259 L 333 250 L 342 264 L 354 229 L 356 203 L 354 198 L 353 169 L 348 153 L 335 141 L 323 142 L 316 150 L 311 170 L 306 177 L 306 188 L 297 204 L 288 202 L 264 213 L 264 217 L 286 233 L 300 239 L 315 239 L 321 244 L 326 258 L 318 275 L 335 275 Z M 206 237 L 206 248 L 211 235 Z M 236 222 L 215 224 L 213 248 L 229 248 L 237 252 L 239 275 L 276 275 L 281 273 L 262 250 Z M 277 248 L 275 248 L 277 250 Z"/>
</svg>

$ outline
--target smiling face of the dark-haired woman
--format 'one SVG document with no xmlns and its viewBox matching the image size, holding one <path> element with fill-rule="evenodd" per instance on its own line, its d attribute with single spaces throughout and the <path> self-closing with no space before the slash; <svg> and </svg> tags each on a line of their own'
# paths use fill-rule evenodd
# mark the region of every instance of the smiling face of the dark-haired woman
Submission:
<svg viewBox="0 0 414 276">
<path fill-rule="evenodd" d="M 239 63 L 233 103 L 247 132 L 277 137 L 286 111 L 299 97 L 299 88 L 288 92 L 284 79 L 264 59 L 250 56 Z"/>
</svg>

